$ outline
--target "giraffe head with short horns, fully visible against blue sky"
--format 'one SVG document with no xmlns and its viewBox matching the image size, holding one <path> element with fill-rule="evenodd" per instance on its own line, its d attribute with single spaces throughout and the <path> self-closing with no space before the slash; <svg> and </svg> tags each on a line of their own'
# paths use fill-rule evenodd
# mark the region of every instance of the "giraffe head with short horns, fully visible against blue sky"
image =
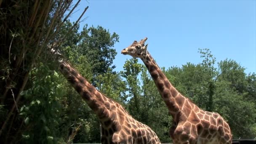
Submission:
<svg viewBox="0 0 256 144">
<path fill-rule="evenodd" d="M 136 40 L 127 48 L 122 50 L 122 54 L 130 55 L 132 57 L 141 58 L 147 54 L 147 45 L 144 45 L 147 40 L 147 37 L 137 42 Z"/>
</svg>

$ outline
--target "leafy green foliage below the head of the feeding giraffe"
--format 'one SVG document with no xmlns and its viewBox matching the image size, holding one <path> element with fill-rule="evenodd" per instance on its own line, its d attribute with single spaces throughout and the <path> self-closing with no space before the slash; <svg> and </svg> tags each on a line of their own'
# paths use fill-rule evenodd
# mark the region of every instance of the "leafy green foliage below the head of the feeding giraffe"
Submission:
<svg viewBox="0 0 256 144">
<path fill-rule="evenodd" d="M 60 97 L 64 87 L 59 81 L 59 74 L 51 71 L 42 63 L 30 72 L 31 88 L 22 91 L 26 101 L 19 110 L 24 118 L 26 129 L 22 131 L 23 143 L 56 143 L 59 141 L 58 128 L 60 121 Z"/>
</svg>

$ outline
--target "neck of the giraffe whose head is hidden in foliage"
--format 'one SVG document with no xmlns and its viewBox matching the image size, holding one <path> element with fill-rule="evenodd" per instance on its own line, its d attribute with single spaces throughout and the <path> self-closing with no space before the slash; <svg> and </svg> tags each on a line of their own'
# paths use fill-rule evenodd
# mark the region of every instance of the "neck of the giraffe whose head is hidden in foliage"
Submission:
<svg viewBox="0 0 256 144">
<path fill-rule="evenodd" d="M 61 73 L 66 77 L 66 79 L 71 83 L 73 88 L 80 94 L 80 96 L 85 100 L 88 106 L 93 110 L 93 112 L 99 117 L 103 125 L 106 119 L 111 119 L 110 109 L 115 109 L 119 105 L 108 98 L 101 92 L 99 92 L 91 83 L 89 83 L 84 77 L 82 77 L 67 61 L 61 61 Z M 65 70 L 63 70 L 65 69 Z M 118 107 L 119 108 L 119 107 Z"/>
</svg>

